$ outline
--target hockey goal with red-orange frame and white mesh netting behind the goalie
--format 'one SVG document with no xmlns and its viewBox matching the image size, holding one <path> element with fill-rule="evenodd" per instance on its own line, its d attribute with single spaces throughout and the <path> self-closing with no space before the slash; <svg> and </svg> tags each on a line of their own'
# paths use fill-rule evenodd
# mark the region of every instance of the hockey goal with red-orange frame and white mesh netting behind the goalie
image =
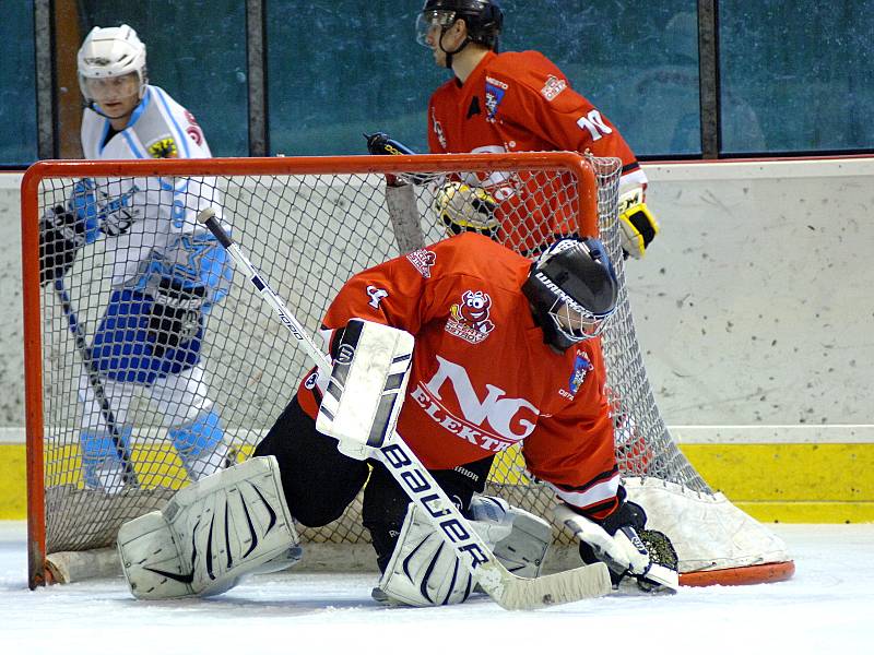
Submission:
<svg viewBox="0 0 874 655">
<path fill-rule="evenodd" d="M 185 422 L 158 410 L 144 386 L 128 385 L 118 422 L 130 430 L 137 484 L 107 493 L 84 481 L 83 353 L 70 312 L 90 344 L 113 293 L 111 239 L 79 252 L 63 281 L 69 296 L 39 284 L 38 222 L 64 205 L 75 181 L 96 180 L 104 203 L 137 186 L 138 203 L 165 203 L 191 221 L 212 206 L 271 286 L 311 333 L 354 273 L 446 238 L 435 195 L 447 181 L 486 189 L 498 201 L 499 240 L 532 255 L 554 235 L 595 234 L 621 282 L 617 315 L 603 338 L 616 455 L 626 488 L 649 527 L 672 537 L 685 584 L 744 583 L 790 576 L 783 544 L 714 492 L 672 439 L 647 380 L 625 287 L 617 228 L 619 162 L 569 153 L 270 159 L 44 162 L 22 184 L 25 382 L 32 588 L 93 573 L 110 563 L 118 527 L 160 509 L 189 474 L 167 439 Z M 387 183 L 392 182 L 392 183 Z M 85 348 L 87 350 L 87 347 Z M 206 395 L 237 460 L 249 456 L 311 367 L 269 307 L 239 274 L 209 314 L 200 366 Z M 87 392 L 85 392 L 87 393 Z M 204 472 L 200 472 L 204 473 Z M 198 472 L 193 472 L 197 475 Z M 554 495 L 525 473 L 518 449 L 496 457 L 487 493 L 551 519 Z M 361 498 L 361 497 L 359 497 Z M 554 550 L 575 550 L 556 528 Z M 356 500 L 336 522 L 303 528 L 315 565 L 371 562 Z M 317 555 L 318 553 L 318 555 Z M 555 567 L 564 565 L 556 558 Z M 305 559 L 306 561 L 306 559 Z M 566 565 L 575 565 L 568 560 Z"/>
</svg>

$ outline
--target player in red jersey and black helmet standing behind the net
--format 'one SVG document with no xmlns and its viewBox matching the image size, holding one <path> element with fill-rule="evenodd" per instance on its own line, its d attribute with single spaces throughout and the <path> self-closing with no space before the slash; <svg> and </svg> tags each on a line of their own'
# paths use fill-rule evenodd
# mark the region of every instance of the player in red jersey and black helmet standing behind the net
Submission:
<svg viewBox="0 0 874 655">
<path fill-rule="evenodd" d="M 496 0 L 427 0 L 420 15 L 418 40 L 452 80 L 428 104 L 428 145 L 433 153 L 571 151 L 622 160 L 619 211 L 623 249 L 641 258 L 659 226 L 646 205 L 647 177 L 616 127 L 570 87 L 565 74 L 542 53 L 498 53 L 504 15 Z M 495 201 L 497 238 L 522 252 L 542 245 L 528 235 L 536 224 L 570 219 L 531 213 L 525 196 L 536 175 L 480 180 Z M 562 203 L 555 202 L 554 205 Z M 530 225 L 529 225 L 530 224 Z M 470 229 L 463 219 L 453 231 Z M 483 231 L 483 230 L 480 230 Z M 583 233 L 594 234 L 583 229 Z"/>
</svg>

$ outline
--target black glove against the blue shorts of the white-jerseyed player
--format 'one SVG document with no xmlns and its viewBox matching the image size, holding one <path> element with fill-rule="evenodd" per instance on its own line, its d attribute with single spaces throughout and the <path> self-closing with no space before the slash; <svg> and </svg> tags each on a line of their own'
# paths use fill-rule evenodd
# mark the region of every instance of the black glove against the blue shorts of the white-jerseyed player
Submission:
<svg viewBox="0 0 874 655">
<path fill-rule="evenodd" d="M 168 348 L 176 348 L 194 338 L 203 326 L 203 302 L 206 287 L 190 285 L 179 279 L 164 277 L 152 291 L 152 312 L 149 330 L 155 336 L 152 352 L 163 357 Z"/>
</svg>

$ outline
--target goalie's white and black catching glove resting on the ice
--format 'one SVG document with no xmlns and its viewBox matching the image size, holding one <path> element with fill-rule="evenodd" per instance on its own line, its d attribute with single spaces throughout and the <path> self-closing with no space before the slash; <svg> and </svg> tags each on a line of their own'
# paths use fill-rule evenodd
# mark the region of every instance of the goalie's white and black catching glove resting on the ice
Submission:
<svg viewBox="0 0 874 655">
<path fill-rule="evenodd" d="M 676 592 L 678 560 L 671 540 L 663 533 L 643 528 L 647 514 L 640 505 L 625 500 L 623 487 L 618 496 L 619 507 L 598 523 L 567 504 L 556 507 L 555 517 L 580 540 L 583 562 L 607 565 L 614 588 L 630 576 L 643 592 Z"/>
</svg>

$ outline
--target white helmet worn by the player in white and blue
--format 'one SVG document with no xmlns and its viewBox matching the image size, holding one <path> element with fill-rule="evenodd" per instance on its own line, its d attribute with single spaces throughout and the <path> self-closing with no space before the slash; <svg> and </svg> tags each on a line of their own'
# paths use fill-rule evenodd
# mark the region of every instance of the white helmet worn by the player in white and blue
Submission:
<svg viewBox="0 0 874 655">
<path fill-rule="evenodd" d="M 119 78 L 137 73 L 140 97 L 145 93 L 145 45 L 129 25 L 94 27 L 85 37 L 76 57 L 79 87 L 87 103 L 92 103 L 85 80 Z"/>
</svg>

